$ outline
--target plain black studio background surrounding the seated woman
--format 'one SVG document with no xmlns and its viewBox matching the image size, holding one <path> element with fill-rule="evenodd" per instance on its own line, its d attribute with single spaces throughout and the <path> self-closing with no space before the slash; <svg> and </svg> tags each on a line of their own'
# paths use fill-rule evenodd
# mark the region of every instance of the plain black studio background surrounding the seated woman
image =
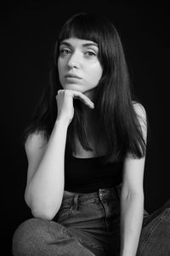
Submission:
<svg viewBox="0 0 170 256">
<path fill-rule="evenodd" d="M 126 50 L 133 89 L 146 109 L 150 142 L 144 171 L 145 208 L 170 197 L 168 8 L 121 1 L 7 2 L 1 8 L 1 236 L 10 255 L 14 230 L 31 212 L 24 201 L 27 160 L 20 136 L 48 83 L 56 32 L 71 15 L 90 11 L 116 26 Z"/>
</svg>

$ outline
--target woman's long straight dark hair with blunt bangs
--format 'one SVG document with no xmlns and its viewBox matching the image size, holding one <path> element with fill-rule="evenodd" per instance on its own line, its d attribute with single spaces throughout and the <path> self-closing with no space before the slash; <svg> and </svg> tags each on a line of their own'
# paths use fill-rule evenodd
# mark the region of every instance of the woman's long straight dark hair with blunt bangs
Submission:
<svg viewBox="0 0 170 256">
<path fill-rule="evenodd" d="M 99 61 L 103 67 L 102 78 L 95 88 L 94 106 L 98 115 L 99 130 L 97 141 L 106 142 L 104 162 L 122 160 L 127 152 L 141 158 L 145 154 L 145 142 L 139 125 L 139 119 L 133 108 L 133 96 L 127 61 L 122 42 L 111 21 L 81 13 L 72 16 L 62 26 L 54 47 L 54 61 L 49 74 L 49 84 L 44 88 L 40 102 L 32 114 L 23 134 L 23 142 L 36 131 L 44 131 L 48 139 L 57 118 L 55 96 L 59 89 L 57 61 L 59 44 L 66 38 L 82 38 L 99 45 Z M 69 125 L 66 139 L 66 154 L 76 152 L 75 136 L 82 148 L 92 150 L 88 144 L 87 127 L 82 116 L 81 102 L 74 100 L 75 113 Z M 98 150 L 98 147 L 96 147 Z M 97 151 L 98 152 L 98 151 Z"/>
</svg>

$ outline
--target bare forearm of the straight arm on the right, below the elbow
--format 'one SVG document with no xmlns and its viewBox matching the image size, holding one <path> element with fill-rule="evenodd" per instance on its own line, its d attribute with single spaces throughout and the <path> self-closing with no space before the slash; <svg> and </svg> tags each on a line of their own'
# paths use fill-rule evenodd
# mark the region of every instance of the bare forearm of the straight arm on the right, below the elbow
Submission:
<svg viewBox="0 0 170 256">
<path fill-rule="evenodd" d="M 135 256 L 143 222 L 143 193 L 122 197 L 121 208 L 121 256 Z"/>
</svg>

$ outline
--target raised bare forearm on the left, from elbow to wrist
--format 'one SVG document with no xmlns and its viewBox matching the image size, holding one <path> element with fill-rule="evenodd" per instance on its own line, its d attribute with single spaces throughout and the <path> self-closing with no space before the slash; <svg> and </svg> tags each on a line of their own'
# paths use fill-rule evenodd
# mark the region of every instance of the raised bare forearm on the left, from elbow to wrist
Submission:
<svg viewBox="0 0 170 256">
<path fill-rule="evenodd" d="M 64 191 L 65 143 L 68 124 L 57 120 L 48 147 L 30 183 L 26 202 L 35 217 L 53 218 Z"/>
</svg>

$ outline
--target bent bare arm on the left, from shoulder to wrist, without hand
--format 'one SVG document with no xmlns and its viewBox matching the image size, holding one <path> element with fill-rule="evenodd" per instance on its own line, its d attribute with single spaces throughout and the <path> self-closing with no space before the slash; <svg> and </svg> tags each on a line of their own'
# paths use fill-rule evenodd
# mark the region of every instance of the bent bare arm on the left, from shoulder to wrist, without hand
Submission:
<svg viewBox="0 0 170 256">
<path fill-rule="evenodd" d="M 25 199 L 36 218 L 52 219 L 59 210 L 64 191 L 68 125 L 57 119 L 46 146 L 41 135 L 35 134 L 26 141 L 28 174 Z"/>
</svg>

